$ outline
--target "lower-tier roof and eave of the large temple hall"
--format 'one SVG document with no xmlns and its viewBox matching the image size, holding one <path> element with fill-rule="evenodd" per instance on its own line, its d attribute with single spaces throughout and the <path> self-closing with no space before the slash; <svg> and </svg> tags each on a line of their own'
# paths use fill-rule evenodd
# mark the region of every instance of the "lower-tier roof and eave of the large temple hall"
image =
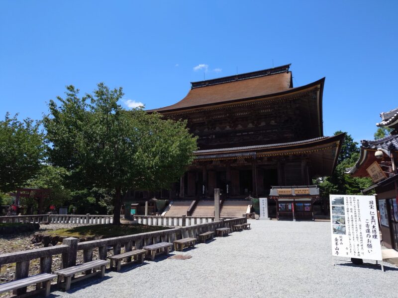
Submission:
<svg viewBox="0 0 398 298">
<path fill-rule="evenodd" d="M 224 160 L 245 157 L 272 157 L 307 154 L 315 176 L 331 175 L 345 134 L 291 143 L 195 151 L 195 160 Z"/>
</svg>

